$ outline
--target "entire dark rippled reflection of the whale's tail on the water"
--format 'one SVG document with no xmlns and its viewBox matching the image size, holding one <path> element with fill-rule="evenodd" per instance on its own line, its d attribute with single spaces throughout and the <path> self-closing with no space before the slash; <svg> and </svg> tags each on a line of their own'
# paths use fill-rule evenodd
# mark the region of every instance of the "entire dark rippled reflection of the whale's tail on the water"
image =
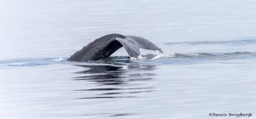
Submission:
<svg viewBox="0 0 256 119">
<path fill-rule="evenodd" d="M 140 86 L 137 83 L 151 80 L 155 69 L 154 65 L 78 65 L 84 67 L 83 71 L 78 71 L 81 77 L 75 77 L 76 81 L 90 82 L 90 85 L 75 91 L 94 92 L 92 95 L 79 99 L 119 99 L 137 98 L 141 93 L 154 91 L 154 88 Z M 128 69 L 126 69 L 128 68 Z M 96 93 L 95 93 L 96 92 Z"/>
</svg>

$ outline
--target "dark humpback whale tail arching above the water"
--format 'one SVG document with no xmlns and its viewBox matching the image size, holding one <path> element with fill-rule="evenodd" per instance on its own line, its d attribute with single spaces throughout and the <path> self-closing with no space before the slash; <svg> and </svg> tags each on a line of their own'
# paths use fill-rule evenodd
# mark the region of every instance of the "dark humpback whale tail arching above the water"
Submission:
<svg viewBox="0 0 256 119">
<path fill-rule="evenodd" d="M 130 57 L 134 58 L 137 58 L 140 55 L 140 48 L 158 50 L 163 53 L 160 48 L 154 45 L 154 43 L 143 37 L 108 34 L 90 42 L 67 60 L 82 62 L 105 59 L 121 47 L 124 47 Z"/>
</svg>

